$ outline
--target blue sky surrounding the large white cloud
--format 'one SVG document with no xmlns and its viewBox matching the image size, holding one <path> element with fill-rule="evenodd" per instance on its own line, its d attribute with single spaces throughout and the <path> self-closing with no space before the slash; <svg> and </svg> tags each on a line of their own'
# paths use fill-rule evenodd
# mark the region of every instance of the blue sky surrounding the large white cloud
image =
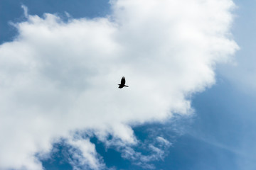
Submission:
<svg viewBox="0 0 256 170">
<path fill-rule="evenodd" d="M 74 147 L 79 145 L 81 148 L 78 141 L 69 141 L 68 137 L 60 135 L 58 140 L 51 142 L 53 147 L 47 150 L 48 154 L 41 156 L 40 149 L 34 153 L 43 169 L 256 169 L 254 52 L 256 46 L 256 1 L 236 0 L 234 3 L 236 8 L 232 13 L 235 18 L 230 31 L 240 50 L 235 52 L 234 57 L 228 63 L 220 63 L 213 67 L 215 84 L 210 81 L 208 85 L 188 95 L 193 113 L 185 115 L 173 113 L 173 117 L 165 118 L 165 121 L 143 120 L 143 123 L 131 123 L 134 136 L 139 141 L 139 144 L 134 146 L 116 143 L 107 145 L 106 141 L 120 142 L 111 140 L 114 139 L 114 132 L 110 132 L 108 136 L 110 139 L 101 140 L 101 135 L 95 135 L 97 132 L 90 130 L 90 127 L 80 130 L 78 126 L 78 132 L 75 134 L 87 139 L 86 145 L 90 147 L 94 145 L 96 151 L 91 151 L 92 154 L 85 154 L 83 157 L 89 157 L 90 162 L 90 157 L 94 155 L 100 162 L 97 164 L 104 165 L 91 166 L 89 164 L 88 166 L 86 161 L 82 164 L 79 156 L 82 153 Z M 63 18 L 63 22 L 68 21 L 68 17 L 90 20 L 95 17 L 109 16 L 112 13 L 109 2 L 102 0 L 1 0 L 1 45 L 13 42 L 18 35 L 17 28 L 11 23 L 28 20 L 21 5 L 27 6 L 28 14 L 31 16 L 37 15 L 42 18 L 43 13 L 57 13 L 60 18 Z M 65 12 L 69 15 L 67 16 Z M 126 21 L 124 20 L 124 22 Z M 125 60 L 129 61 L 129 59 Z M 55 67 L 58 68 L 58 64 Z M 175 81 L 175 79 L 173 80 Z M 128 82 L 129 79 L 127 79 L 127 84 Z M 134 84 L 132 85 L 134 86 Z M 4 99 L 8 100 L 8 98 Z M 4 105 L 4 99 L 1 99 L 1 105 Z M 10 114 L 12 112 L 14 111 L 11 111 Z M 2 116 L 4 117 L 4 115 Z M 61 116 L 58 116 L 57 118 L 61 119 Z M 12 124 L 11 120 L 7 123 Z M 71 128 L 71 130 L 73 129 Z M 127 131 L 124 130 L 124 132 Z M 1 136 L 8 138 L 9 133 L 11 132 L 6 130 L 6 133 L 3 132 Z M 122 139 L 122 135 L 120 137 Z M 124 140 L 127 139 L 125 137 Z M 156 139 L 153 140 L 155 137 Z M 129 137 L 128 140 L 130 140 Z M 132 154 L 128 154 L 127 151 Z M 6 149 L 5 152 L 9 152 L 9 150 Z M 1 155 L 4 154 L 9 153 Z M 143 160 L 139 159 L 142 157 Z M 0 167 L 22 169 L 22 166 L 0 165 Z"/>
</svg>

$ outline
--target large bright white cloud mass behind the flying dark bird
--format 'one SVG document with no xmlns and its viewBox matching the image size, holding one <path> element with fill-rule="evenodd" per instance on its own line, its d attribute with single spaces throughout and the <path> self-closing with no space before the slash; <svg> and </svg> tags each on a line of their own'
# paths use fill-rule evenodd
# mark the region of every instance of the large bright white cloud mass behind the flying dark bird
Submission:
<svg viewBox="0 0 256 170">
<path fill-rule="evenodd" d="M 64 23 L 46 13 L 16 23 L 16 40 L 0 46 L 0 169 L 42 169 L 34 154 L 74 130 L 135 145 L 129 125 L 191 113 L 187 96 L 212 85 L 215 64 L 238 49 L 233 6 L 119 0 L 107 18 Z M 122 76 L 127 89 L 117 88 Z M 90 141 L 70 144 L 102 167 Z"/>
</svg>

